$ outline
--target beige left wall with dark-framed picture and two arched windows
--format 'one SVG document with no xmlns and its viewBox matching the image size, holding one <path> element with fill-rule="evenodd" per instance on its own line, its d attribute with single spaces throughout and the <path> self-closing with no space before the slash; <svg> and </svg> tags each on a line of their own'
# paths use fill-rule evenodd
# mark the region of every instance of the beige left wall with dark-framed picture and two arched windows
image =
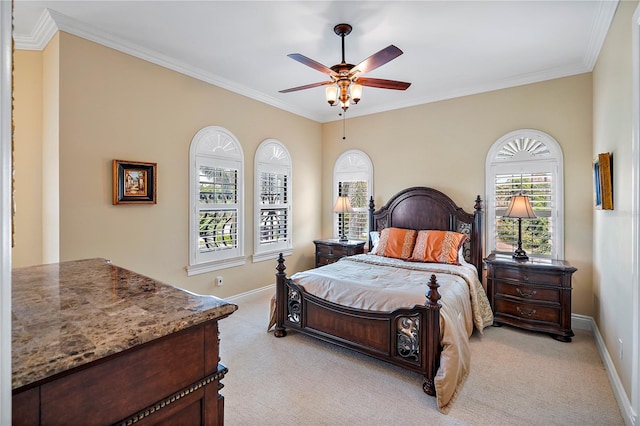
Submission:
<svg viewBox="0 0 640 426">
<path fill-rule="evenodd" d="M 308 189 L 320 185 L 320 124 L 66 33 L 59 52 L 60 261 L 104 257 L 220 297 L 273 283 L 275 259 L 252 263 L 251 254 L 254 153 L 275 138 L 293 163 L 288 267 L 313 265 L 320 194 Z M 245 154 L 247 264 L 187 277 L 189 145 L 209 125 L 230 130 Z M 113 159 L 158 164 L 157 205 L 112 205 Z M 217 275 L 224 286 L 214 287 Z"/>
</svg>

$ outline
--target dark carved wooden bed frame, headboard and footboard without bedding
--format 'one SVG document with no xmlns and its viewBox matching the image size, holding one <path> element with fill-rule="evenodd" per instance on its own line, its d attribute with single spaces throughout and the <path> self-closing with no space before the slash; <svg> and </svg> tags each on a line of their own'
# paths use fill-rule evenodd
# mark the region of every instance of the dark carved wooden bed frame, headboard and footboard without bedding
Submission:
<svg viewBox="0 0 640 426">
<path fill-rule="evenodd" d="M 396 227 L 465 233 L 469 241 L 463 249 L 464 257 L 482 274 L 481 204 L 478 196 L 475 211 L 469 214 L 442 192 L 412 187 L 394 195 L 379 210 L 375 210 L 372 198 L 369 226 L 371 231 Z M 442 350 L 435 275 L 431 276 L 423 305 L 381 312 L 349 308 L 305 292 L 286 276 L 282 255 L 276 269 L 276 337 L 286 336 L 291 329 L 388 361 L 423 375 L 423 390 L 435 396 L 434 378 Z M 411 324 L 413 338 L 407 339 L 406 333 L 398 331 L 400 323 Z"/>
</svg>

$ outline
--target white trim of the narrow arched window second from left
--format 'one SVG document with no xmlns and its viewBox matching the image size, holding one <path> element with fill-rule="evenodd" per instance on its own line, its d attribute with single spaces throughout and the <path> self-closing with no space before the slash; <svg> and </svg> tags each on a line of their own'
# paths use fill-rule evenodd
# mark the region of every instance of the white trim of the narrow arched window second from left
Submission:
<svg viewBox="0 0 640 426">
<path fill-rule="evenodd" d="M 268 151 L 270 149 L 278 149 L 280 154 L 278 158 L 274 157 Z M 267 157 L 268 156 L 268 157 Z M 260 243 L 260 175 L 262 171 L 276 171 L 284 173 L 288 177 L 287 184 L 287 241 L 285 243 L 274 243 L 269 248 L 265 248 Z M 283 256 L 293 254 L 293 199 L 292 199 L 292 166 L 291 155 L 282 142 L 277 139 L 265 139 L 256 149 L 254 157 L 254 236 L 253 236 L 253 262 L 263 262 L 265 260 L 274 260 L 278 253 Z"/>
</svg>

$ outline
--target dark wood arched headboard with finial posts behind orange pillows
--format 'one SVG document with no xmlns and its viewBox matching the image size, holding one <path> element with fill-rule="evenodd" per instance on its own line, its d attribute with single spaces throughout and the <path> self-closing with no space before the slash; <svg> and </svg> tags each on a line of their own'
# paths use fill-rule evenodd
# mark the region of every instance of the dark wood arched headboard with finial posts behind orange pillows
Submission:
<svg viewBox="0 0 640 426">
<path fill-rule="evenodd" d="M 373 197 L 369 201 L 369 230 L 384 228 L 438 229 L 469 235 L 465 244 L 465 259 L 475 265 L 482 278 L 482 200 L 475 200 L 473 214 L 458 207 L 442 192 L 423 186 L 404 189 L 375 210 Z M 371 237 L 369 237 L 371 246 Z"/>
</svg>

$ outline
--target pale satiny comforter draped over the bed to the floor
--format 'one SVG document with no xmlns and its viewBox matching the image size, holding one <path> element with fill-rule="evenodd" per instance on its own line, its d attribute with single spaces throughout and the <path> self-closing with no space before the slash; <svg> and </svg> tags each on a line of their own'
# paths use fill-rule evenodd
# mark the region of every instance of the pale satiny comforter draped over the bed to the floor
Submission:
<svg viewBox="0 0 640 426">
<path fill-rule="evenodd" d="M 469 373 L 469 336 L 493 322 L 489 301 L 472 265 L 406 262 L 362 254 L 298 272 L 291 279 L 325 300 L 352 308 L 390 312 L 425 303 L 427 283 L 436 274 L 443 346 L 435 377 L 438 408 L 447 413 Z"/>
</svg>

